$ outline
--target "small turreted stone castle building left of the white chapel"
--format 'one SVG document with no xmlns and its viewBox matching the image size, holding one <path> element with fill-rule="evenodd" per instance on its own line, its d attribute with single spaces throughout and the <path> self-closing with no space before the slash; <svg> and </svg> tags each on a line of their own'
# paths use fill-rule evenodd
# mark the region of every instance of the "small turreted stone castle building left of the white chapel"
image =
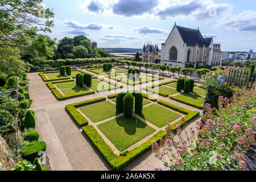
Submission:
<svg viewBox="0 0 256 182">
<path fill-rule="evenodd" d="M 158 46 L 152 46 L 151 44 L 147 44 L 142 49 L 142 62 L 144 63 L 156 63 L 159 62 L 159 49 Z"/>
</svg>

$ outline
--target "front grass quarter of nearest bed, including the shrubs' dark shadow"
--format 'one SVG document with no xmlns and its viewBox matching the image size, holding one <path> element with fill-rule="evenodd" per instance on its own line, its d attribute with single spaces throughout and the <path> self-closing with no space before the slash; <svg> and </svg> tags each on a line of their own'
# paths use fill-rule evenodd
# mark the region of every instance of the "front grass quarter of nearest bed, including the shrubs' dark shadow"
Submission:
<svg viewBox="0 0 256 182">
<path fill-rule="evenodd" d="M 125 118 L 123 116 L 98 125 L 98 129 L 119 151 L 125 150 L 155 131 L 135 117 Z"/>
</svg>

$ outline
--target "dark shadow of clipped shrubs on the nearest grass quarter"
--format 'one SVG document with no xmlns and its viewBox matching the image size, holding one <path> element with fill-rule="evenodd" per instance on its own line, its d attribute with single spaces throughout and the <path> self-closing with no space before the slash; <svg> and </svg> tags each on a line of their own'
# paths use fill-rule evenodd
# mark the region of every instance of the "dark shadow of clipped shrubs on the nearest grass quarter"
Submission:
<svg viewBox="0 0 256 182">
<path fill-rule="evenodd" d="M 145 127 L 147 127 L 146 123 L 140 121 L 135 117 L 131 117 L 131 118 L 119 117 L 119 118 L 116 118 L 115 121 L 117 121 L 117 124 L 119 126 L 124 127 L 125 133 L 129 135 L 134 135 L 137 131 L 137 128 L 144 129 Z"/>
</svg>

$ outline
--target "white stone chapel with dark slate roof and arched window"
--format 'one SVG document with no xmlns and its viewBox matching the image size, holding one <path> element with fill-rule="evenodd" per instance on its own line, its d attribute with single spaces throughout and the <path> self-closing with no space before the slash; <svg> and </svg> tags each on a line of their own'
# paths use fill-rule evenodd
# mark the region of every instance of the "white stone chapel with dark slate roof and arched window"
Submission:
<svg viewBox="0 0 256 182">
<path fill-rule="evenodd" d="M 172 28 L 165 43 L 162 43 L 161 63 L 197 68 L 204 64 L 221 65 L 221 44 L 212 38 L 203 38 L 199 31 L 176 26 Z"/>
</svg>

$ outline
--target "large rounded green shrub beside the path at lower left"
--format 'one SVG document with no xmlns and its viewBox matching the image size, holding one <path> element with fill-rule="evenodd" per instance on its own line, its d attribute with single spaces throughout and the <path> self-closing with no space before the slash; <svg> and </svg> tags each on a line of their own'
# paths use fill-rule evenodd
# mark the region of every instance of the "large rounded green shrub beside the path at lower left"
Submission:
<svg viewBox="0 0 256 182">
<path fill-rule="evenodd" d="M 38 157 L 38 152 L 40 151 L 46 151 L 46 142 L 30 142 L 23 147 L 21 154 L 24 159 L 34 162 L 34 159 Z"/>
</svg>

